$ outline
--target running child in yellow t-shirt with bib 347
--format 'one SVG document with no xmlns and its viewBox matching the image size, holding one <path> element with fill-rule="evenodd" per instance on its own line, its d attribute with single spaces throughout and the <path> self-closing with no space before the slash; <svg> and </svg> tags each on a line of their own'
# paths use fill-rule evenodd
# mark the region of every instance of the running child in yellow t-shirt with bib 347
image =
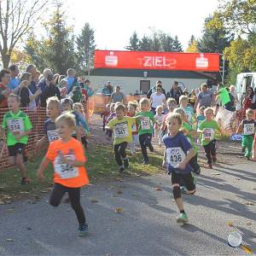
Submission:
<svg viewBox="0 0 256 256">
<path fill-rule="evenodd" d="M 114 110 L 116 118 L 108 123 L 108 129 L 113 130 L 113 150 L 115 160 L 119 165 L 119 172 L 121 173 L 129 167 L 129 160 L 125 149 L 127 144 L 132 142 L 131 125 L 136 122 L 136 118 L 125 116 L 125 105 L 123 104 L 116 105 Z"/>
</svg>

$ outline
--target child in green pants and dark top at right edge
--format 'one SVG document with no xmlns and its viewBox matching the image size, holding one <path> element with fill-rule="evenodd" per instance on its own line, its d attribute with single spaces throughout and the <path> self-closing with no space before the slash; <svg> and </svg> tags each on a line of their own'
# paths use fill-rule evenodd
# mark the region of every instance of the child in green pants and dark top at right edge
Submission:
<svg viewBox="0 0 256 256">
<path fill-rule="evenodd" d="M 250 160 L 253 149 L 253 137 L 255 134 L 255 121 L 253 120 L 253 109 L 247 108 L 246 119 L 241 120 L 237 128 L 236 134 L 242 128 L 241 152 L 245 153 L 244 157 Z"/>
</svg>

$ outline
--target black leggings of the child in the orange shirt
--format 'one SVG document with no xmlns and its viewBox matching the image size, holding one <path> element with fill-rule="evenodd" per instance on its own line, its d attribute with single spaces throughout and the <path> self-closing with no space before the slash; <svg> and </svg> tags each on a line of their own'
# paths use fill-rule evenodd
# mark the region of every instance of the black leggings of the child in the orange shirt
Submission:
<svg viewBox="0 0 256 256">
<path fill-rule="evenodd" d="M 68 193 L 71 207 L 76 212 L 79 224 L 85 224 L 84 209 L 80 204 L 80 188 L 67 188 L 55 183 L 49 198 L 49 204 L 53 207 L 58 207 L 61 203 L 61 198 L 66 192 Z"/>
</svg>

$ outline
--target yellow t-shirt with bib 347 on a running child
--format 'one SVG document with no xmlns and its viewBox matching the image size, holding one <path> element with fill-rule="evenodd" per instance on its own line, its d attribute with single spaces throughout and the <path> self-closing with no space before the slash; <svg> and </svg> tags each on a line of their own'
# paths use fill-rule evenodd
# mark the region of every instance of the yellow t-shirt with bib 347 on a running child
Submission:
<svg viewBox="0 0 256 256">
<path fill-rule="evenodd" d="M 125 116 L 123 119 L 112 119 L 108 126 L 113 128 L 113 144 L 131 143 L 132 142 L 132 129 L 131 125 L 136 122 L 136 118 Z"/>
</svg>

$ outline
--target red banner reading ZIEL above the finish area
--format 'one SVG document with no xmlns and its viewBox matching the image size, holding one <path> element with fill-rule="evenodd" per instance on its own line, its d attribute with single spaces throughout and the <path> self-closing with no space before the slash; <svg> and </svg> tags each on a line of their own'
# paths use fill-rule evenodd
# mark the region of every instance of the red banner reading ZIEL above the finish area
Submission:
<svg viewBox="0 0 256 256">
<path fill-rule="evenodd" d="M 135 68 L 218 72 L 216 53 L 96 50 L 95 68 Z"/>
</svg>

